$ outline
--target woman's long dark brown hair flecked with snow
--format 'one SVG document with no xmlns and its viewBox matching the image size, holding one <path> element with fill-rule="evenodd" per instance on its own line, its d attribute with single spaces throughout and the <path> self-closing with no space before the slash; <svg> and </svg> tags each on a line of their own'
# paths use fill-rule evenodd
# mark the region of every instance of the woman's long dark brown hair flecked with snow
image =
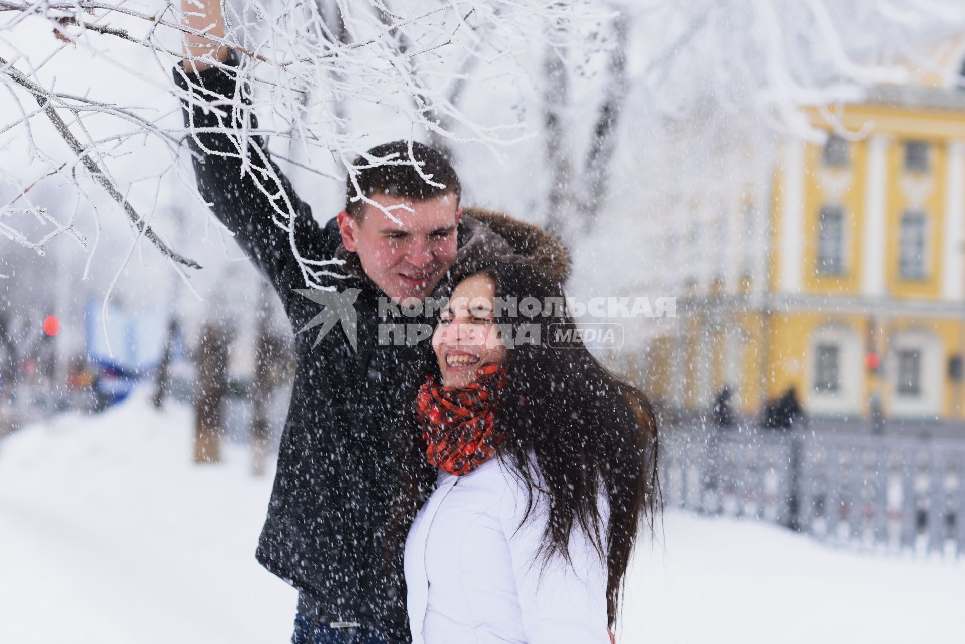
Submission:
<svg viewBox="0 0 965 644">
<path fill-rule="evenodd" d="M 541 303 L 564 298 L 562 284 L 525 261 L 496 261 L 480 272 L 496 282 L 498 298 L 520 302 L 534 297 Z M 642 529 L 652 531 L 660 508 L 653 407 L 640 389 L 603 367 L 578 334 L 566 333 L 576 329 L 568 311 L 554 309 L 532 319 L 504 315 L 496 321 L 507 325 L 504 328 L 511 325 L 513 337 L 523 324 L 538 325 L 538 334 L 530 335 L 538 341 L 516 344 L 508 352 L 509 385 L 496 410 L 496 422 L 506 432 L 498 455 L 529 492 L 523 521 L 538 494 L 549 496 L 541 545 L 544 562 L 553 556 L 569 560 L 574 527 L 590 536 L 606 559 L 607 618 L 613 626 L 630 555 Z M 386 553 L 399 560 L 408 526 L 434 483 L 414 424 L 402 434 L 400 450 L 406 457 L 400 459 L 400 495 Z M 609 502 L 605 524 L 599 495 Z"/>
</svg>

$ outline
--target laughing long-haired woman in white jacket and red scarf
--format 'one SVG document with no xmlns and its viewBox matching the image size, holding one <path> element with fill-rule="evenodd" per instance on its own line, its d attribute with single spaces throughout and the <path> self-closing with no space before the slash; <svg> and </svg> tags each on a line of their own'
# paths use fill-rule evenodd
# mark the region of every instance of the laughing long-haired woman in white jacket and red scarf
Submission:
<svg viewBox="0 0 965 644">
<path fill-rule="evenodd" d="M 404 550 L 414 644 L 606 644 L 630 551 L 652 527 L 646 398 L 556 335 L 575 328 L 567 314 L 495 306 L 526 297 L 563 292 L 532 265 L 496 262 L 456 284 L 432 338 L 438 372 L 415 416 L 438 480 Z M 421 498 L 414 470 L 400 524 Z"/>
</svg>

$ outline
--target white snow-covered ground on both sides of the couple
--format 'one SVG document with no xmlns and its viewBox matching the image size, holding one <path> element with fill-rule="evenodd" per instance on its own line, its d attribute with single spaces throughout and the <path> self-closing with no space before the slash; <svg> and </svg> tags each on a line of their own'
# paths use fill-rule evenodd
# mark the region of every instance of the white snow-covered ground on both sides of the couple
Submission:
<svg viewBox="0 0 965 644">
<path fill-rule="evenodd" d="M 294 593 L 255 562 L 270 476 L 194 467 L 190 417 L 140 392 L 0 442 L 0 642 L 286 642 Z M 965 561 L 831 550 L 671 513 L 638 554 L 619 641 L 965 641 Z"/>
</svg>

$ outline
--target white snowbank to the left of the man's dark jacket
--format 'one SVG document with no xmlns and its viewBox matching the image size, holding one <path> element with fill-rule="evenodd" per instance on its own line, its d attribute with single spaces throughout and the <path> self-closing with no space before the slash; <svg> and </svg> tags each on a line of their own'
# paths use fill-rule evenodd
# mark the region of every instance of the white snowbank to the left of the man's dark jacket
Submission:
<svg viewBox="0 0 965 644">
<path fill-rule="evenodd" d="M 295 592 L 255 561 L 271 477 L 191 464 L 191 416 L 135 391 L 0 443 L 0 642 L 285 642 Z"/>
</svg>

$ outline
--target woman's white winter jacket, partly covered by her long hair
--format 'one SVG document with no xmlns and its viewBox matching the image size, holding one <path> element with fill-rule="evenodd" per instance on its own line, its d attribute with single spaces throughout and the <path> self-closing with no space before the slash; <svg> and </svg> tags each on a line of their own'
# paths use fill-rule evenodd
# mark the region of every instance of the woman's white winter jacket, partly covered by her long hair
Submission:
<svg viewBox="0 0 965 644">
<path fill-rule="evenodd" d="M 600 497 L 606 521 L 606 499 Z M 405 542 L 413 644 L 609 644 L 605 560 L 574 527 L 571 563 L 538 548 L 549 516 L 499 458 L 438 485 Z"/>
</svg>

